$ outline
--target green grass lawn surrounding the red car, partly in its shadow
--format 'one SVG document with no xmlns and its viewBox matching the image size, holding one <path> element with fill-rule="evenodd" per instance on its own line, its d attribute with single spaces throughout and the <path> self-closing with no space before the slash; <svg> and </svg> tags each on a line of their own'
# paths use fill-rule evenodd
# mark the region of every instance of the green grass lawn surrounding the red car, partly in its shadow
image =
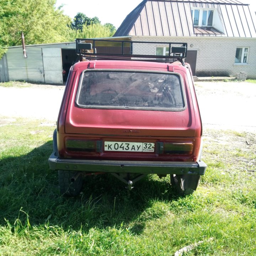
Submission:
<svg viewBox="0 0 256 256">
<path fill-rule="evenodd" d="M 169 177 L 129 192 L 99 175 L 65 198 L 47 162 L 53 130 L 24 119 L 0 127 L 1 256 L 169 256 L 198 241 L 183 255 L 256 255 L 255 134 L 206 130 L 208 168 L 191 196 L 177 197 Z"/>
</svg>

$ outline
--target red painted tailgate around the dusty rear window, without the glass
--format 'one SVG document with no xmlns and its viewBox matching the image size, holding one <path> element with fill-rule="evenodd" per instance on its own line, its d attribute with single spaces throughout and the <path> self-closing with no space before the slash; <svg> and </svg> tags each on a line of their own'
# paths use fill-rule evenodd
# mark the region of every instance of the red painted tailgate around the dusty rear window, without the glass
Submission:
<svg viewBox="0 0 256 256">
<path fill-rule="evenodd" d="M 107 63 L 107 64 L 105 64 Z M 153 71 L 165 71 L 167 74 L 172 74 L 168 72 L 168 67 L 170 65 L 163 63 L 145 63 L 143 65 L 141 62 L 114 62 L 114 66 L 111 65 L 113 62 L 96 62 L 94 66 L 95 69 L 90 69 L 90 71 L 95 70 L 147 70 L 148 72 Z M 119 63 L 119 65 L 117 65 Z M 87 64 L 88 65 L 88 64 Z M 107 65 L 107 66 L 106 66 Z M 137 65 L 134 67 L 134 65 Z M 90 66 L 90 65 L 88 65 Z M 77 91 L 79 90 L 79 78 L 80 70 L 85 69 L 84 66 L 78 67 L 76 70 L 76 84 L 73 86 L 66 115 L 65 122 L 65 133 L 71 134 L 90 134 L 90 135 L 100 135 L 100 136 L 134 136 L 134 137 L 194 137 L 195 136 L 195 118 L 193 107 L 191 106 L 191 96 L 187 93 L 186 85 L 186 73 L 182 70 L 185 69 L 179 65 L 173 65 L 180 76 L 180 82 L 183 94 L 182 107 L 178 107 L 173 110 L 165 108 L 164 110 L 150 110 L 143 108 L 143 110 L 130 109 L 130 108 L 118 108 L 118 109 L 108 109 L 108 108 L 88 108 L 84 106 L 78 106 L 77 104 Z M 87 66 L 86 66 L 87 68 Z M 88 69 L 86 70 L 88 71 Z M 134 73 L 133 73 L 134 74 Z M 121 74 L 122 75 L 122 74 Z M 147 75 L 147 73 L 146 73 Z M 145 76 L 146 76 L 145 75 Z M 160 73 L 161 77 L 162 74 Z M 114 77 L 115 78 L 115 77 Z M 110 79 L 114 80 L 114 78 Z M 159 80 L 158 80 L 159 81 Z M 148 83 L 147 81 L 141 81 L 141 83 Z M 153 83 L 152 83 L 153 84 Z M 160 84 L 158 82 L 158 84 Z M 107 90 L 108 85 L 100 85 L 101 88 L 104 86 Z M 160 89 L 160 85 L 158 85 Z M 102 88 L 103 90 L 104 88 Z M 149 88 L 150 89 L 150 88 Z M 117 89 L 116 89 L 117 90 Z M 153 87 L 151 94 L 157 95 Z M 153 92 L 152 92 L 153 90 Z M 159 91 L 161 92 L 161 91 Z M 96 92 L 95 92 L 96 94 Z M 159 94 L 159 93 L 158 93 Z M 90 107 L 90 106 L 89 106 Z M 99 106 L 102 107 L 102 106 Z"/>
</svg>

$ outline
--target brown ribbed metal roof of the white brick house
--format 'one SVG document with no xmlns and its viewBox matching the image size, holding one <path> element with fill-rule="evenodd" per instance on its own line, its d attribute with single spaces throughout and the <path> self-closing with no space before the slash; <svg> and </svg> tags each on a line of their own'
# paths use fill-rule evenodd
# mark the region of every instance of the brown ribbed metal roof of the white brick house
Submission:
<svg viewBox="0 0 256 256">
<path fill-rule="evenodd" d="M 223 32 L 194 27 L 191 7 L 218 11 Z M 256 37 L 256 16 L 237 0 L 144 0 L 125 18 L 114 36 Z"/>
</svg>

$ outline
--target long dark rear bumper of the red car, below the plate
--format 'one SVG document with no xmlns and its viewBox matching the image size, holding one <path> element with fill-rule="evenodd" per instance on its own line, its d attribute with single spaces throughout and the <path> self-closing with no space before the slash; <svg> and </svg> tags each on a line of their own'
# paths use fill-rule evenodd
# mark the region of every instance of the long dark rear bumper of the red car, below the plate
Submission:
<svg viewBox="0 0 256 256">
<path fill-rule="evenodd" d="M 198 162 L 157 162 L 157 161 L 106 161 L 59 159 L 50 155 L 51 170 L 70 170 L 84 172 L 116 172 L 137 174 L 198 174 L 204 175 L 207 165 Z"/>
</svg>

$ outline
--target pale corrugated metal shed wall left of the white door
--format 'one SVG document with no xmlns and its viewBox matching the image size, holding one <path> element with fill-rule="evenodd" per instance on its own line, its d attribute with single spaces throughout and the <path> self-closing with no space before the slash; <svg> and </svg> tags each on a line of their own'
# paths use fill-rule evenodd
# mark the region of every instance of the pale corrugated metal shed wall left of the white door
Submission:
<svg viewBox="0 0 256 256">
<path fill-rule="evenodd" d="M 9 79 L 44 83 L 41 47 L 27 47 L 26 52 L 27 58 L 23 58 L 22 47 L 8 49 Z"/>
</svg>

